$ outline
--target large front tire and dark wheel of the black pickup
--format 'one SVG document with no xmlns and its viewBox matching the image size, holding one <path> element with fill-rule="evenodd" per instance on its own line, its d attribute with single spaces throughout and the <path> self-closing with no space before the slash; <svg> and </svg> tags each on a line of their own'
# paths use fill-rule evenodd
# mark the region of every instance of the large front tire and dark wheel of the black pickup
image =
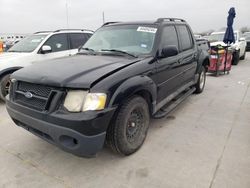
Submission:
<svg viewBox="0 0 250 188">
<path fill-rule="evenodd" d="M 147 102 L 134 96 L 122 104 L 111 122 L 106 143 L 121 155 L 131 155 L 140 149 L 146 139 L 149 127 Z"/>
</svg>

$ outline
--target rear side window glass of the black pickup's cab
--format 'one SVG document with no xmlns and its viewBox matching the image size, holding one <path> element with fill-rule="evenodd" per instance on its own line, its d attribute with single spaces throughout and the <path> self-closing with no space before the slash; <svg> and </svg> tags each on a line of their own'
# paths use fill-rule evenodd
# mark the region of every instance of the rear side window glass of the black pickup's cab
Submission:
<svg viewBox="0 0 250 188">
<path fill-rule="evenodd" d="M 190 36 L 190 31 L 187 26 L 181 25 L 177 26 L 179 35 L 180 35 L 180 43 L 182 47 L 182 51 L 189 50 L 193 48 L 193 41 Z"/>
</svg>

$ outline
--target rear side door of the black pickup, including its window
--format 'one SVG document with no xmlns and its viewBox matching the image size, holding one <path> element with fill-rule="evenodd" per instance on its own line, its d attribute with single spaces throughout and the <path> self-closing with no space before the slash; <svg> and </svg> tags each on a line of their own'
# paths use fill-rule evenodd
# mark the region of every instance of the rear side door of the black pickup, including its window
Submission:
<svg viewBox="0 0 250 188">
<path fill-rule="evenodd" d="M 176 28 L 180 43 L 179 66 L 181 66 L 183 73 L 181 77 L 181 84 L 184 85 L 195 77 L 195 71 L 198 64 L 198 51 L 189 27 L 187 27 L 187 25 L 177 25 Z"/>
</svg>

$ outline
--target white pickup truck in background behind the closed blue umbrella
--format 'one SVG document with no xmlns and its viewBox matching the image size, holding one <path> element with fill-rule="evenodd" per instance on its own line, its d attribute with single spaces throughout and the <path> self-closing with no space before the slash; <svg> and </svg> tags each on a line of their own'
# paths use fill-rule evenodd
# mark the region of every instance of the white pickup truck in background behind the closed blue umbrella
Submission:
<svg viewBox="0 0 250 188">
<path fill-rule="evenodd" d="M 223 42 L 225 32 L 213 32 L 209 37 L 211 46 L 222 45 L 226 46 Z M 237 65 L 239 60 L 245 59 L 246 56 L 246 39 L 243 37 L 240 31 L 234 31 L 235 43 L 231 44 L 231 47 L 234 50 L 233 53 L 233 65 Z"/>
</svg>

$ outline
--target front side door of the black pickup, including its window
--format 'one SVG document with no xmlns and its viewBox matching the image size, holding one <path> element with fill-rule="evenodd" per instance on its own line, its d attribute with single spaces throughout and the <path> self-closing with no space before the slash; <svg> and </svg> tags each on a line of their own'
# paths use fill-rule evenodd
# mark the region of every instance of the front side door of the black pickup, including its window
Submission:
<svg viewBox="0 0 250 188">
<path fill-rule="evenodd" d="M 176 46 L 177 49 L 179 49 L 178 36 L 174 25 L 167 25 L 163 28 L 160 41 L 159 51 L 167 46 Z M 179 58 L 179 55 L 168 58 L 160 58 L 156 63 L 158 103 L 163 101 L 167 96 L 180 87 L 182 70 L 179 65 Z"/>
</svg>

